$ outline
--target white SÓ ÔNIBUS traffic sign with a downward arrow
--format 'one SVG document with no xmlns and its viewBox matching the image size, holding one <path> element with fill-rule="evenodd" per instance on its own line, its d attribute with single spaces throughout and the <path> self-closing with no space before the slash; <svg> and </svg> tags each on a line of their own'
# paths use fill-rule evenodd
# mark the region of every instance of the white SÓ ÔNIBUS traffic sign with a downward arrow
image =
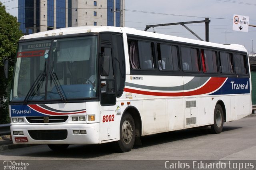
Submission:
<svg viewBox="0 0 256 170">
<path fill-rule="evenodd" d="M 240 32 L 248 32 L 249 27 L 249 17 L 242 15 L 234 15 L 233 16 L 233 30 Z"/>
</svg>

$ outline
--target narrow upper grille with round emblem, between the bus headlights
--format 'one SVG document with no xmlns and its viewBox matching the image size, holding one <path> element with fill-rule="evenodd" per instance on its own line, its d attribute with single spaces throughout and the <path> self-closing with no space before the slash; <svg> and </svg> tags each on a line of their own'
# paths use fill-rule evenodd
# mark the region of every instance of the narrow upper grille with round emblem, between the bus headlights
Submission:
<svg viewBox="0 0 256 170">
<path fill-rule="evenodd" d="M 45 123 L 44 117 L 45 116 L 26 117 L 26 119 L 29 123 Z M 67 119 L 68 119 L 68 116 L 49 116 L 48 123 L 63 123 L 63 122 L 66 122 Z"/>
</svg>

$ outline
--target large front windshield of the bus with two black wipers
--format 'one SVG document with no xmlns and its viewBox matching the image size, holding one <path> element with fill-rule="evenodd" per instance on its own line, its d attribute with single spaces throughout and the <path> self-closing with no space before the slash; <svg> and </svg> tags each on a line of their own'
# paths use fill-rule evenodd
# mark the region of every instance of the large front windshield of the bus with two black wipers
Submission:
<svg viewBox="0 0 256 170">
<path fill-rule="evenodd" d="M 19 43 L 11 101 L 96 97 L 97 36 Z"/>
</svg>

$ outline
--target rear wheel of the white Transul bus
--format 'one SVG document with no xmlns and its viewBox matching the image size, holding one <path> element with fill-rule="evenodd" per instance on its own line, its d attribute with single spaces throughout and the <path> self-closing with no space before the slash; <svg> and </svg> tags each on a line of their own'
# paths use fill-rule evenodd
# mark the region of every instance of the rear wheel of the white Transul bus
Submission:
<svg viewBox="0 0 256 170">
<path fill-rule="evenodd" d="M 222 132 L 224 123 L 223 110 L 221 105 L 217 104 L 214 109 L 214 124 L 211 125 L 211 132 L 218 134 Z"/>
</svg>

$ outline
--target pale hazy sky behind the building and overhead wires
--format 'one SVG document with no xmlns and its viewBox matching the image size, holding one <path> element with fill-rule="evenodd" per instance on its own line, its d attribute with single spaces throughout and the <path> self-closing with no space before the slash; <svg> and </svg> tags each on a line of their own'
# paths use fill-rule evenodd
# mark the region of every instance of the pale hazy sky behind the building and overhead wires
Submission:
<svg viewBox="0 0 256 170">
<path fill-rule="evenodd" d="M 0 0 L 6 11 L 18 18 L 18 0 Z M 9 2 L 8 2 L 9 1 Z M 210 42 L 236 43 L 256 53 L 256 27 L 248 32 L 232 30 L 233 15 L 249 17 L 249 24 L 256 26 L 255 0 L 125 0 L 125 26 L 144 30 L 146 25 L 210 19 Z M 205 40 L 205 24 L 186 24 Z M 150 28 L 148 32 L 198 40 L 181 25 Z M 254 42 L 253 42 L 254 41 Z"/>
</svg>

